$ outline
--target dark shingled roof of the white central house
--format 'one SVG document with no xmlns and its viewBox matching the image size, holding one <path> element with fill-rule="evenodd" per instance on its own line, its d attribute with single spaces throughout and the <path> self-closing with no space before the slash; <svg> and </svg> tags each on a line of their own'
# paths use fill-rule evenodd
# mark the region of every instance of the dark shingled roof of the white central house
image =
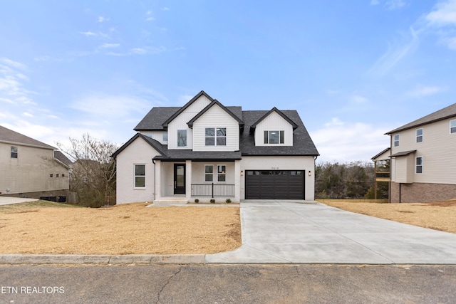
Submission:
<svg viewBox="0 0 456 304">
<path fill-rule="evenodd" d="M 138 137 L 141 137 L 149 145 L 154 147 L 155 150 L 160 152 L 160 156 L 155 157 L 155 159 L 160 159 L 162 161 L 170 160 L 236 160 L 241 159 L 242 156 L 318 156 L 318 150 L 314 145 L 314 142 L 311 140 L 309 132 L 307 132 L 304 123 L 301 121 L 299 114 L 296 110 L 278 110 L 273 108 L 272 110 L 259 110 L 259 111 L 242 111 L 241 107 L 224 107 L 217 100 L 214 100 L 209 95 L 204 93 L 204 91 L 199 92 L 192 100 L 190 100 L 183 107 L 167 107 L 167 108 L 152 108 L 150 112 L 145 115 L 145 117 L 140 121 L 140 123 L 135 127 L 135 131 L 154 131 L 154 130 L 166 130 L 167 124 L 172 121 L 177 115 L 180 114 L 185 108 L 193 103 L 201 95 L 205 95 L 211 104 L 209 104 L 205 110 L 212 107 L 214 104 L 219 104 L 226 110 L 229 115 L 232 115 L 239 122 L 239 146 L 241 151 L 236 152 L 197 152 L 192 150 L 167 150 L 167 145 L 162 145 L 157 140 L 152 140 L 152 138 L 142 135 L 140 133 L 133 136 L 128 142 L 125 143 L 119 150 L 117 150 L 113 157 L 116 157 L 121 151 L 125 149 L 131 142 L 136 140 Z M 293 146 L 283 146 L 283 145 L 274 145 L 274 146 L 255 146 L 254 135 L 250 132 L 257 125 L 258 122 L 263 120 L 271 112 L 277 112 L 281 117 L 284 117 L 288 121 L 293 129 Z M 190 125 L 194 122 L 201 112 L 190 120 Z"/>
</svg>

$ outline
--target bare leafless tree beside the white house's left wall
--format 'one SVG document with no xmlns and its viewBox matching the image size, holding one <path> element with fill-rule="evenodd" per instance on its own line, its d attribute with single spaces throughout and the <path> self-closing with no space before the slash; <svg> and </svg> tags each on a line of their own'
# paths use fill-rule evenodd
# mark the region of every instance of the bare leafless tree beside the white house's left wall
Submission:
<svg viewBox="0 0 456 304">
<path fill-rule="evenodd" d="M 111 155 L 118 146 L 98 140 L 88 133 L 81 140 L 70 137 L 66 147 L 57 142 L 60 150 L 73 161 L 70 191 L 76 192 L 78 204 L 100 207 L 115 202 L 115 161 Z"/>
</svg>

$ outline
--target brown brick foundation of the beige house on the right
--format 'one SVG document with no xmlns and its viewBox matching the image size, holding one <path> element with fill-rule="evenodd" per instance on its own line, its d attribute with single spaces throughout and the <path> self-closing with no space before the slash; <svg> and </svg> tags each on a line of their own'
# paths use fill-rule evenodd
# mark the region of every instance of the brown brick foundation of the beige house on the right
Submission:
<svg viewBox="0 0 456 304">
<path fill-rule="evenodd" d="M 390 188 L 391 203 L 425 203 L 456 199 L 456 184 L 400 184 L 400 197 L 398 183 L 392 182 Z"/>
</svg>

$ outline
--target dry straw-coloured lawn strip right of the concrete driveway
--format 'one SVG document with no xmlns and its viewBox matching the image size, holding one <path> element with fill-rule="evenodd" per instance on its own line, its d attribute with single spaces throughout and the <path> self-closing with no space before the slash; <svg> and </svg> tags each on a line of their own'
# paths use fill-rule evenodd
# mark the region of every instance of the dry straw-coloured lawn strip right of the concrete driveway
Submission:
<svg viewBox="0 0 456 304">
<path fill-rule="evenodd" d="M 325 202 L 346 211 L 456 234 L 456 199 L 420 204 Z"/>
</svg>

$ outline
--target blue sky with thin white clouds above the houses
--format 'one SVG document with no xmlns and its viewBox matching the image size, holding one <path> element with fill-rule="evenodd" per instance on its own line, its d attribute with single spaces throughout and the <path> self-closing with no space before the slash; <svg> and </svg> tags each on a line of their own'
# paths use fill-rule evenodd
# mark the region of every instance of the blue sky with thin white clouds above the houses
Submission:
<svg viewBox="0 0 456 304">
<path fill-rule="evenodd" d="M 456 0 L 1 1 L 0 46 L 0 125 L 53 146 L 123 144 L 204 90 L 298 110 L 318 161 L 369 161 L 456 102 Z"/>
</svg>

